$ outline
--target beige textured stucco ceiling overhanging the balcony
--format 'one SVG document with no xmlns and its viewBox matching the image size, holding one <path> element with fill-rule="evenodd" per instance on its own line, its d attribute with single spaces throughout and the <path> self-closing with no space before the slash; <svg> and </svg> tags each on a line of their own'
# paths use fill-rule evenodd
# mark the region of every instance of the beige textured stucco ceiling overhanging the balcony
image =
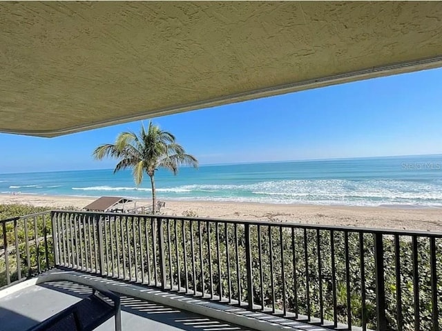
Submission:
<svg viewBox="0 0 442 331">
<path fill-rule="evenodd" d="M 1 2 L 0 132 L 52 137 L 441 56 L 441 1 Z"/>
</svg>

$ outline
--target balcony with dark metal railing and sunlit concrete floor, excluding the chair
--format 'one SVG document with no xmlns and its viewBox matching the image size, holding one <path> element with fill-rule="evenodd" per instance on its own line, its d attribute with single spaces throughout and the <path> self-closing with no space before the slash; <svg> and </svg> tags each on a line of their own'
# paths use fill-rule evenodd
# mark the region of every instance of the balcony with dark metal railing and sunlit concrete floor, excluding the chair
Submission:
<svg viewBox="0 0 442 331">
<path fill-rule="evenodd" d="M 0 312 L 17 330 L 95 283 L 122 296 L 123 330 L 441 323 L 440 232 L 61 210 L 0 222 Z"/>
</svg>

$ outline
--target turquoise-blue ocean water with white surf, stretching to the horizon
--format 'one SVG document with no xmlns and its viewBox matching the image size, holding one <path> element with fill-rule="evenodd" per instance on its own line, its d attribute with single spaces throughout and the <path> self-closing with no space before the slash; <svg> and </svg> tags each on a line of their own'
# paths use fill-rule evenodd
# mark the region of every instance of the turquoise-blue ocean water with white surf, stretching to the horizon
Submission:
<svg viewBox="0 0 442 331">
<path fill-rule="evenodd" d="M 442 207 L 442 155 L 204 165 L 155 176 L 160 199 Z M 0 192 L 150 198 L 130 171 L 0 174 Z"/>
</svg>

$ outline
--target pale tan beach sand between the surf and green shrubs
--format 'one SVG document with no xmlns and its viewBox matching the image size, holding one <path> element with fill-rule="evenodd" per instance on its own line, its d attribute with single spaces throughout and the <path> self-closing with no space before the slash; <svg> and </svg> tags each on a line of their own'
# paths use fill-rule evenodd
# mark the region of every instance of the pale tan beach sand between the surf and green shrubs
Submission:
<svg viewBox="0 0 442 331">
<path fill-rule="evenodd" d="M 83 208 L 96 198 L 0 194 L 0 204 L 22 203 L 54 208 Z M 137 205 L 149 205 L 148 199 Z M 362 228 L 432 230 L 442 232 L 442 208 L 356 207 L 340 205 L 286 205 L 215 201 L 167 201 L 162 213 L 221 219 L 289 221 Z"/>
</svg>

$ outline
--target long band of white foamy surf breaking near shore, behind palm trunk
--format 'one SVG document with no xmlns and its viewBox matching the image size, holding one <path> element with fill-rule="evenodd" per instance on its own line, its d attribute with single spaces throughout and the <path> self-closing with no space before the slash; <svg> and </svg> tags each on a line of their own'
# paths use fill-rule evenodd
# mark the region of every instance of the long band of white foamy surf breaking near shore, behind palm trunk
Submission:
<svg viewBox="0 0 442 331">
<path fill-rule="evenodd" d="M 442 183 L 373 179 L 299 179 L 250 184 L 192 184 L 157 188 L 165 199 L 238 201 L 262 203 L 315 203 L 381 205 L 410 204 L 442 206 Z M 76 187 L 81 191 L 151 192 L 151 188 L 109 185 Z"/>
</svg>

